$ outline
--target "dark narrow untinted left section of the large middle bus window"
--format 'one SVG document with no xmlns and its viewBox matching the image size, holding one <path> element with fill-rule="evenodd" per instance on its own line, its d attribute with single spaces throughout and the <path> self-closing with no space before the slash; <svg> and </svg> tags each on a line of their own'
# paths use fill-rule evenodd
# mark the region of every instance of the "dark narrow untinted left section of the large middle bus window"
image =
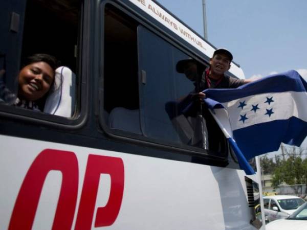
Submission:
<svg viewBox="0 0 307 230">
<path fill-rule="evenodd" d="M 104 17 L 104 118 L 112 129 L 141 134 L 137 24 L 113 7 Z"/>
</svg>

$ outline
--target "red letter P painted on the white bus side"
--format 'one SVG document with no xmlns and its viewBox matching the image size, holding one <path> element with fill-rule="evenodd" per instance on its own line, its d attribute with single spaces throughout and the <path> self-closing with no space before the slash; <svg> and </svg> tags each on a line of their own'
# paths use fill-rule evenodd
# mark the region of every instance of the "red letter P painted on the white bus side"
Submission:
<svg viewBox="0 0 307 230">
<path fill-rule="evenodd" d="M 100 174 L 111 176 L 107 204 L 97 209 L 95 227 L 109 226 L 116 220 L 124 192 L 124 164 L 121 158 L 89 155 L 75 229 L 91 229 Z"/>
</svg>

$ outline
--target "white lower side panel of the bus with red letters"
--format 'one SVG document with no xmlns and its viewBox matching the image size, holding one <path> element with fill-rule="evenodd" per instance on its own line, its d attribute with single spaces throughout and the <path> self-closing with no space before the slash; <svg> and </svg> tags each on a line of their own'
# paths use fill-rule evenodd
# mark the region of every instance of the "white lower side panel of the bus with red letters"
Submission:
<svg viewBox="0 0 307 230">
<path fill-rule="evenodd" d="M 0 138 L 5 229 L 20 221 L 28 224 L 23 229 L 60 229 L 57 218 L 65 229 L 255 229 L 243 171 Z M 27 220 L 16 217 L 20 210 Z"/>
</svg>

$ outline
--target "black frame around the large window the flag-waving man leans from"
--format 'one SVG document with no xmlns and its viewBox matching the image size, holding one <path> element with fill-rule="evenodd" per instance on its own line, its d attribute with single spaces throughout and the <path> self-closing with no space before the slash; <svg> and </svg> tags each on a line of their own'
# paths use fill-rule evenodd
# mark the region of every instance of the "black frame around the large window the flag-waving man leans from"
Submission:
<svg viewBox="0 0 307 230">
<path fill-rule="evenodd" d="M 224 162 L 223 164 L 225 166 L 228 165 L 228 157 L 229 157 L 229 151 L 230 147 L 227 143 L 226 146 L 226 156 L 220 157 L 217 156 L 213 151 L 201 149 L 198 147 L 192 147 L 188 145 L 176 145 L 174 143 L 168 143 L 163 142 L 161 140 L 155 140 L 155 139 L 148 139 L 148 137 L 138 135 L 132 132 L 127 132 L 123 130 L 117 130 L 117 129 L 111 129 L 108 127 L 108 125 L 105 123 L 105 116 L 104 116 L 104 102 L 103 102 L 103 79 L 104 79 L 104 15 L 105 15 L 105 7 L 106 5 L 111 5 L 112 7 L 115 7 L 117 10 L 119 10 L 121 13 L 125 14 L 132 20 L 135 20 L 139 25 L 145 27 L 147 30 L 151 31 L 153 34 L 156 34 L 160 38 L 167 41 L 170 45 L 172 45 L 174 48 L 178 49 L 179 51 L 185 53 L 186 55 L 192 57 L 194 60 L 198 61 L 199 63 L 203 64 L 204 66 L 209 65 L 209 58 L 207 60 L 204 60 L 206 57 L 203 55 L 199 56 L 195 52 L 191 52 L 187 50 L 189 47 L 183 48 L 183 45 L 180 41 L 176 40 L 176 37 L 172 36 L 171 34 L 167 34 L 163 29 L 159 28 L 155 23 L 150 22 L 146 16 L 142 16 L 140 13 L 138 13 L 138 10 L 134 10 L 133 8 L 128 7 L 127 5 L 123 3 L 114 3 L 112 1 L 106 0 L 100 3 L 100 84 L 99 84 L 99 95 L 98 95 L 98 112 L 99 112 L 99 123 L 104 132 L 117 140 L 122 140 L 124 142 L 129 143 L 138 143 L 145 146 L 153 146 L 159 149 L 164 150 L 170 150 L 170 151 L 177 151 L 179 153 L 183 154 L 189 154 L 189 155 L 200 155 L 203 157 L 207 157 L 211 160 L 216 160 L 217 162 Z M 159 24 L 159 22 L 157 22 Z M 177 35 L 176 35 L 177 36 Z M 193 48 L 194 49 L 194 48 Z M 140 74 L 140 73 L 139 73 Z M 238 168 L 237 168 L 238 169 Z"/>
</svg>

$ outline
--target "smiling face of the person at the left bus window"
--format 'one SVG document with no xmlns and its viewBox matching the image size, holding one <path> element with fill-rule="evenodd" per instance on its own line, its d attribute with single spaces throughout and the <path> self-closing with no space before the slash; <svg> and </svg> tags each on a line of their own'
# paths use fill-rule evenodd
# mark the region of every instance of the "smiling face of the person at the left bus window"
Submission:
<svg viewBox="0 0 307 230">
<path fill-rule="evenodd" d="M 21 69 L 18 75 L 18 97 L 28 101 L 42 98 L 54 81 L 54 71 L 43 61 L 34 62 Z"/>
</svg>

